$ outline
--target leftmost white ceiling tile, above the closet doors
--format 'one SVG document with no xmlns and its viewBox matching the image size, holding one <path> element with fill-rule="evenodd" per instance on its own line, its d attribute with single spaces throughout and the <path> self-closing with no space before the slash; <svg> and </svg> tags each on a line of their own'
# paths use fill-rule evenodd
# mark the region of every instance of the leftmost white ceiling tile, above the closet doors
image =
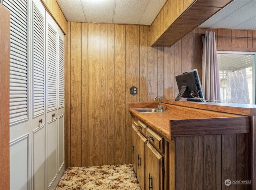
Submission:
<svg viewBox="0 0 256 190">
<path fill-rule="evenodd" d="M 58 0 L 58 4 L 68 21 L 87 22 L 80 0 Z"/>
</svg>

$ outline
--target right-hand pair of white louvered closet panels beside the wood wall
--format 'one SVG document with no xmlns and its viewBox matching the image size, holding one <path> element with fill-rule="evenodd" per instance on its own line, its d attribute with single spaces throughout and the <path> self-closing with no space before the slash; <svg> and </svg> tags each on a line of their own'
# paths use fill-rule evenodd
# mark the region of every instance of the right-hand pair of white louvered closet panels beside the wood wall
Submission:
<svg viewBox="0 0 256 190">
<path fill-rule="evenodd" d="M 64 35 L 46 12 L 46 180 L 64 170 Z"/>
</svg>

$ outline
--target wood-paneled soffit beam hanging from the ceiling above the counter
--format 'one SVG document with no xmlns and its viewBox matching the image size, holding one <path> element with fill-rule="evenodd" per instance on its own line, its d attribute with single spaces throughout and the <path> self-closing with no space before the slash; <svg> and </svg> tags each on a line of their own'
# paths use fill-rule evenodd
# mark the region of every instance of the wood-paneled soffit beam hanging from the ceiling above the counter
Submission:
<svg viewBox="0 0 256 190">
<path fill-rule="evenodd" d="M 170 47 L 232 0 L 168 0 L 148 28 L 148 45 Z"/>
</svg>

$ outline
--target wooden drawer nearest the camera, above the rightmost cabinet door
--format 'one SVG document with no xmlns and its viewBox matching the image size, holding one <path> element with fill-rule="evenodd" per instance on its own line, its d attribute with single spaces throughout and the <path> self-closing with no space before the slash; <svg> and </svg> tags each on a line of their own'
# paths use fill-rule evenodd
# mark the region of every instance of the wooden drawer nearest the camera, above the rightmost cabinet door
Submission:
<svg viewBox="0 0 256 190">
<path fill-rule="evenodd" d="M 161 153 L 164 153 L 164 138 L 158 135 L 155 131 L 150 129 L 146 130 L 146 137 L 148 141 L 156 146 L 160 150 Z"/>
</svg>

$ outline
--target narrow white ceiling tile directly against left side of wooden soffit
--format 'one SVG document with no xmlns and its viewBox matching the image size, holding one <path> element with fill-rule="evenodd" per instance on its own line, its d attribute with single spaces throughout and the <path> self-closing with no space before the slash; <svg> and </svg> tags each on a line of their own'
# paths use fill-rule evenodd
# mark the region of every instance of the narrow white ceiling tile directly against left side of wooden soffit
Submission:
<svg viewBox="0 0 256 190">
<path fill-rule="evenodd" d="M 164 6 L 167 0 L 150 0 L 138 24 L 150 25 Z"/>
</svg>

